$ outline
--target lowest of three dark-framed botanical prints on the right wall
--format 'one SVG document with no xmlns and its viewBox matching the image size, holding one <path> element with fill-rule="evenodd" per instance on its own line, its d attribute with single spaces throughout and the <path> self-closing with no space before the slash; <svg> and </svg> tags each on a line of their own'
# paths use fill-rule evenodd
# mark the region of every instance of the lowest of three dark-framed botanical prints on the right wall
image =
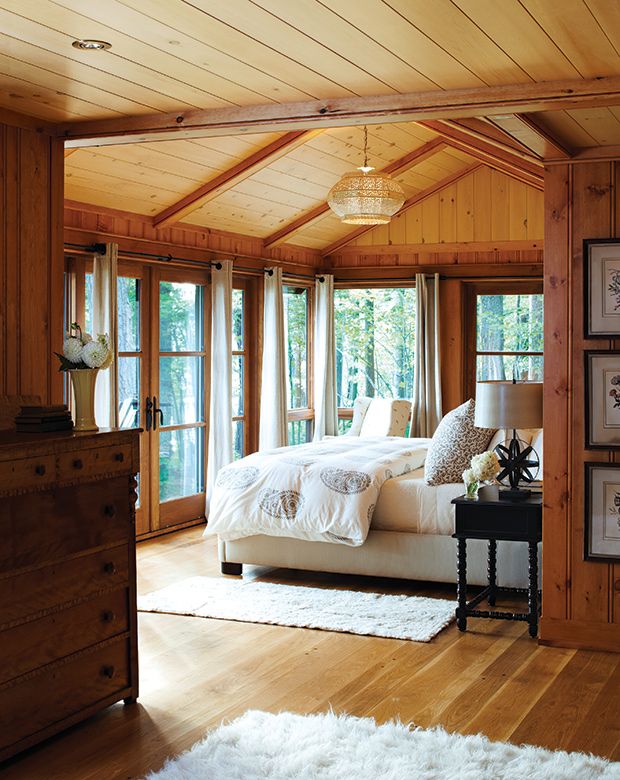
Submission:
<svg viewBox="0 0 620 780">
<path fill-rule="evenodd" d="M 586 561 L 620 561 L 620 463 L 585 463 Z"/>
</svg>

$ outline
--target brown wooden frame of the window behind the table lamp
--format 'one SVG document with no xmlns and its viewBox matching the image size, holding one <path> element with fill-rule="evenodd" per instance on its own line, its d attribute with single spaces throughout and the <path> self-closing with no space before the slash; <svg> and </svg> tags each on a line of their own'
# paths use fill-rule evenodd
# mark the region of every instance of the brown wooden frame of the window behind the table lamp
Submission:
<svg viewBox="0 0 620 780">
<path fill-rule="evenodd" d="M 542 295 L 543 280 L 535 279 L 497 279 L 493 281 L 476 281 L 464 283 L 465 297 L 465 328 L 463 331 L 463 397 L 475 398 L 476 396 L 476 366 L 479 354 L 484 355 L 514 355 L 514 356 L 542 356 L 544 358 L 544 345 L 542 352 L 513 352 L 503 350 L 501 352 L 478 352 L 477 349 L 477 305 L 479 295 Z"/>
</svg>

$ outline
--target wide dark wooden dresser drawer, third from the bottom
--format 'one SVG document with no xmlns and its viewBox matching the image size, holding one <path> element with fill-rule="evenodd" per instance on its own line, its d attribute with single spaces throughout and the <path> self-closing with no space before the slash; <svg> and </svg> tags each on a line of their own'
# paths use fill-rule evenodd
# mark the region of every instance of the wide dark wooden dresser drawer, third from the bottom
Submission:
<svg viewBox="0 0 620 780">
<path fill-rule="evenodd" d="M 7 623 L 129 581 L 129 547 L 71 558 L 0 579 L 0 630 Z"/>
</svg>

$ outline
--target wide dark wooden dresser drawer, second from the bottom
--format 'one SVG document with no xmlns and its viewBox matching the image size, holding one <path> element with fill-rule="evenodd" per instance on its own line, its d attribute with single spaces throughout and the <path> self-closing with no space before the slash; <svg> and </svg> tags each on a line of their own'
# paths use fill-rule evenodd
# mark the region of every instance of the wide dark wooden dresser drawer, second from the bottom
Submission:
<svg viewBox="0 0 620 780">
<path fill-rule="evenodd" d="M 0 633 L 0 685 L 129 630 L 126 588 Z"/>
</svg>

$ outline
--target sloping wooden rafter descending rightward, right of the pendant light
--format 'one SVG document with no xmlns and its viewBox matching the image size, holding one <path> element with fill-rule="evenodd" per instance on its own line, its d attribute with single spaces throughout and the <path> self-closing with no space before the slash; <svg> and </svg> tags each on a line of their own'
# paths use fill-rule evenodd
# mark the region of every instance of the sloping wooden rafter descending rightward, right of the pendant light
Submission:
<svg viewBox="0 0 620 780">
<path fill-rule="evenodd" d="M 497 143 L 489 142 L 480 134 L 472 134 L 471 130 L 464 130 L 453 122 L 433 120 L 420 124 L 440 133 L 453 148 L 460 149 L 491 168 L 542 190 L 543 164 L 540 160 L 518 154 L 509 147 L 499 148 Z"/>
</svg>

